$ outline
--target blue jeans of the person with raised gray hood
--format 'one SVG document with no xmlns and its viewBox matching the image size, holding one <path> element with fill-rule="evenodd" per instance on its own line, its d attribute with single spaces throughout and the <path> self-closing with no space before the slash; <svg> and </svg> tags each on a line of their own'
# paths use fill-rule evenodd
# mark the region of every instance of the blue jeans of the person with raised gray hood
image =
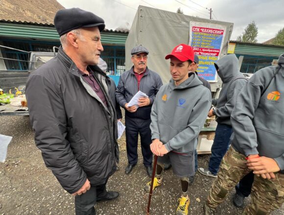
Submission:
<svg viewBox="0 0 284 215">
<path fill-rule="evenodd" d="M 230 137 L 233 133 L 231 126 L 225 124 L 218 124 L 215 130 L 215 138 L 211 147 L 211 157 L 208 169 L 214 175 L 217 175 L 221 161 L 228 151 L 230 144 Z"/>
</svg>

